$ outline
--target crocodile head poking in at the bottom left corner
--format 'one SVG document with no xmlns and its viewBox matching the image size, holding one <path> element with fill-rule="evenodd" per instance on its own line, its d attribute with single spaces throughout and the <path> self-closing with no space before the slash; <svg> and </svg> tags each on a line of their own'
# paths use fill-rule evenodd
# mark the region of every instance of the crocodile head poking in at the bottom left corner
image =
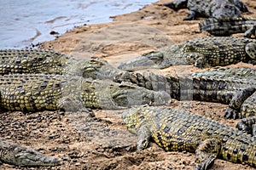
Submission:
<svg viewBox="0 0 256 170">
<path fill-rule="evenodd" d="M 0 138 L 0 162 L 13 164 L 20 167 L 58 166 L 61 161 L 54 157 L 26 148 L 7 139 Z"/>
</svg>

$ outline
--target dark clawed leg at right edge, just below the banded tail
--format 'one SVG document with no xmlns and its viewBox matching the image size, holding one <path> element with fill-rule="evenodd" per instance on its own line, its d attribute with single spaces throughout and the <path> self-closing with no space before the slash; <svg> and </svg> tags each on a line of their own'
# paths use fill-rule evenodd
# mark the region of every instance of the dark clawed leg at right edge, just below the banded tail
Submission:
<svg viewBox="0 0 256 170">
<path fill-rule="evenodd" d="M 255 91 L 255 87 L 245 88 L 238 91 L 237 94 L 231 99 L 229 108 L 224 113 L 224 117 L 232 117 L 233 119 L 245 117 L 244 114 L 240 113 L 241 106 Z"/>
</svg>

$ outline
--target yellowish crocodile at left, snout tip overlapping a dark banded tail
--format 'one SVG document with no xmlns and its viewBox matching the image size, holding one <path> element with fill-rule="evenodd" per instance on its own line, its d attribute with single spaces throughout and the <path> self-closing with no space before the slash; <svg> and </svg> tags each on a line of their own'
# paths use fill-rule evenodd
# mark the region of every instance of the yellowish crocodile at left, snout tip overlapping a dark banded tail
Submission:
<svg viewBox="0 0 256 170">
<path fill-rule="evenodd" d="M 10 74 L 0 78 L 0 108 L 8 111 L 85 111 L 164 105 L 169 95 L 118 83 L 68 75 Z"/>
</svg>

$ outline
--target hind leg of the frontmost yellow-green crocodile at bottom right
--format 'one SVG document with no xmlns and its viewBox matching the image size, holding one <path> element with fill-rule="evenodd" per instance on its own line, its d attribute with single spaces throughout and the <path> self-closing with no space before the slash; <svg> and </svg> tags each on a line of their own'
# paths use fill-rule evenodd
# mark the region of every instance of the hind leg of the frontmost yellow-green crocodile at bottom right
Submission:
<svg viewBox="0 0 256 170">
<path fill-rule="evenodd" d="M 195 162 L 199 163 L 197 170 L 207 169 L 211 167 L 217 158 L 220 150 L 220 142 L 216 139 L 206 139 L 199 144 L 195 150 Z"/>
</svg>

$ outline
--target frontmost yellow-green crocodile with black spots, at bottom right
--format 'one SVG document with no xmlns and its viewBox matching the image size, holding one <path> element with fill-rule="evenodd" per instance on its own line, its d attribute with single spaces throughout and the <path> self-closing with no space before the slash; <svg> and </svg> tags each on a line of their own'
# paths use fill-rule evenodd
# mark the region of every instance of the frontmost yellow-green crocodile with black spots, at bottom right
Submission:
<svg viewBox="0 0 256 170">
<path fill-rule="evenodd" d="M 256 167 L 256 141 L 242 131 L 188 111 L 140 106 L 126 111 L 123 120 L 137 134 L 137 150 L 149 139 L 166 151 L 195 152 L 196 169 L 211 167 L 216 158 Z"/>
</svg>

